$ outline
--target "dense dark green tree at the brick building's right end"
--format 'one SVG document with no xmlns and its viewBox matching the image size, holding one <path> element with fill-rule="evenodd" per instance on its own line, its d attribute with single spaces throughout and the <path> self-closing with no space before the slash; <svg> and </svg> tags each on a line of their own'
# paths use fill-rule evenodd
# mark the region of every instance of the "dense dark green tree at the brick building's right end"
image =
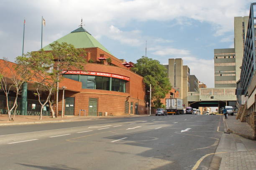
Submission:
<svg viewBox="0 0 256 170">
<path fill-rule="evenodd" d="M 144 77 L 143 81 L 146 84 L 146 90 L 149 90 L 149 85 L 151 84 L 151 97 L 154 105 L 161 106 L 160 99 L 164 98 L 172 89 L 166 68 L 158 60 L 145 56 L 138 59 L 134 66 L 132 70 Z"/>
</svg>

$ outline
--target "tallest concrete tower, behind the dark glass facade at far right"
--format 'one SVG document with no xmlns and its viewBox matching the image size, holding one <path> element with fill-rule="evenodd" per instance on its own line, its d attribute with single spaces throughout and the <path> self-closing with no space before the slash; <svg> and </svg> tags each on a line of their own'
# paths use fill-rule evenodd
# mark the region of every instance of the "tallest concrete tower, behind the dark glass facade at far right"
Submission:
<svg viewBox="0 0 256 170">
<path fill-rule="evenodd" d="M 247 33 L 249 16 L 234 18 L 234 45 L 236 52 L 236 82 L 240 79 L 241 66 L 243 61 L 243 51 L 245 45 L 245 37 Z"/>
</svg>

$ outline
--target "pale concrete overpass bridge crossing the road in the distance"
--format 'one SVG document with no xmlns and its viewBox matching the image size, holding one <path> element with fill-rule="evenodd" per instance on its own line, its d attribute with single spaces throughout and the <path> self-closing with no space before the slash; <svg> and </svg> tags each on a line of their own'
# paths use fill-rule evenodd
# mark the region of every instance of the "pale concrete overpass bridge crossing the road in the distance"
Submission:
<svg viewBox="0 0 256 170">
<path fill-rule="evenodd" d="M 236 88 L 200 88 L 199 92 L 188 92 L 190 107 L 236 106 Z"/>
</svg>

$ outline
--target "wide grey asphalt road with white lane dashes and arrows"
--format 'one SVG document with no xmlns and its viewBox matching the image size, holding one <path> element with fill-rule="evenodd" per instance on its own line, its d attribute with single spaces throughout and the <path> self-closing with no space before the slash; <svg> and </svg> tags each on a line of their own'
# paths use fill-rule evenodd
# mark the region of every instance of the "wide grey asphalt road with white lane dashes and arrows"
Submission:
<svg viewBox="0 0 256 170">
<path fill-rule="evenodd" d="M 0 170 L 205 170 L 217 115 L 108 118 L 0 128 Z M 219 128 L 218 128 L 219 127 Z"/>
</svg>

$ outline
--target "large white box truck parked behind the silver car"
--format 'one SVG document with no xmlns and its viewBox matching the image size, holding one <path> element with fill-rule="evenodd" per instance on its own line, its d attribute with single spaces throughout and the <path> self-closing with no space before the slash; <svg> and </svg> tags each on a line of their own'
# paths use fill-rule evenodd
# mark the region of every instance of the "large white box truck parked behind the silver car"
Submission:
<svg viewBox="0 0 256 170">
<path fill-rule="evenodd" d="M 167 114 L 183 114 L 184 113 L 184 108 L 183 108 L 183 101 L 182 99 L 166 99 L 165 100 L 166 104 L 166 112 Z"/>
</svg>

